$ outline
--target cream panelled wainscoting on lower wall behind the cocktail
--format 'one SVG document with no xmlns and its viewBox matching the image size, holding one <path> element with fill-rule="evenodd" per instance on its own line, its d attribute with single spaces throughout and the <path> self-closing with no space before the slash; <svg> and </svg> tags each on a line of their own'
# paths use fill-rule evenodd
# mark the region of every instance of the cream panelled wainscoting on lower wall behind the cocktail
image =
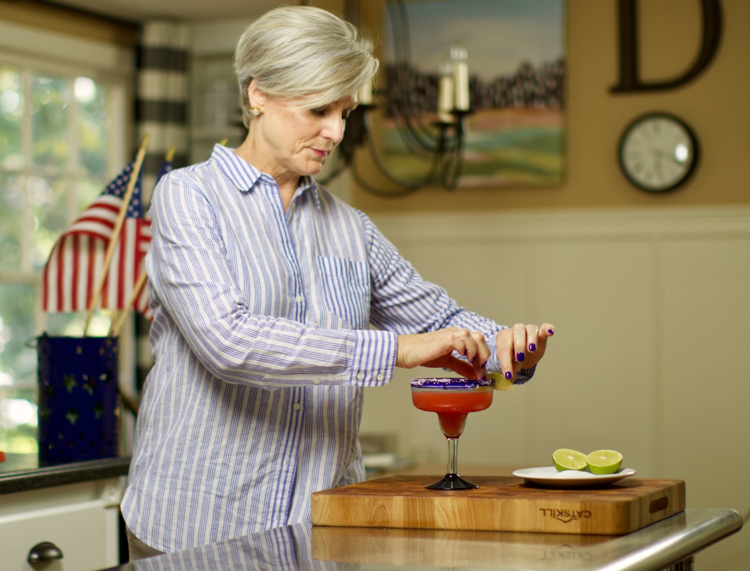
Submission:
<svg viewBox="0 0 750 571">
<path fill-rule="evenodd" d="M 610 448 L 639 476 L 685 479 L 688 506 L 750 507 L 750 207 L 372 218 L 460 305 L 556 327 L 533 380 L 469 416 L 459 467 Z M 362 431 L 442 461 L 437 418 L 407 382 L 432 372 L 367 389 Z M 700 557 L 750 568 L 748 532 Z"/>
</svg>

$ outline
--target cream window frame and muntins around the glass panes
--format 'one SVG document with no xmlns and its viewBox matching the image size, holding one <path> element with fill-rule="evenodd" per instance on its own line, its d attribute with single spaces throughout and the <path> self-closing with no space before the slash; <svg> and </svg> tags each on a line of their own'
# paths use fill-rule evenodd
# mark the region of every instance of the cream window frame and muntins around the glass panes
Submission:
<svg viewBox="0 0 750 571">
<path fill-rule="evenodd" d="M 110 116 L 111 128 L 107 140 L 107 167 L 105 179 L 109 182 L 127 164 L 128 150 L 133 148 L 133 101 L 134 101 L 134 50 L 132 47 L 77 38 L 58 32 L 35 29 L 0 20 L 0 63 L 20 69 L 22 89 L 24 92 L 24 109 L 21 124 L 21 144 L 24 157 L 23 167 L 9 170 L 0 167 L 0 173 L 23 176 L 28 193 L 28 177 L 34 175 L 49 176 L 49 171 L 34 167 L 31 160 L 31 105 L 28 95 L 31 93 L 31 74 L 49 73 L 67 77 L 71 93 L 71 111 L 68 116 L 68 137 L 71 148 L 65 170 L 56 171 L 53 176 L 68 180 L 71 191 L 66 195 L 68 224 L 80 214 L 77 204 L 77 190 L 86 173 L 78 161 L 78 122 L 77 101 L 74 95 L 76 77 L 89 77 L 100 85 L 107 86 L 109 102 L 107 113 Z M 104 185 L 107 184 L 104 182 Z M 102 189 L 104 189 L 104 185 Z M 41 304 L 41 269 L 35 269 L 31 260 L 33 233 L 33 214 L 28 200 L 21 210 L 20 263 L 18 269 L 0 271 L 0 284 L 28 285 L 34 292 L 35 308 L 33 330 L 40 334 L 46 327 L 46 314 Z M 124 386 L 135 386 L 133 368 L 135 338 L 132 323 L 127 323 L 121 332 L 120 381 Z M 36 389 L 37 382 L 14 380 L 12 389 Z M 0 398 L 1 395 L 0 395 Z"/>
</svg>

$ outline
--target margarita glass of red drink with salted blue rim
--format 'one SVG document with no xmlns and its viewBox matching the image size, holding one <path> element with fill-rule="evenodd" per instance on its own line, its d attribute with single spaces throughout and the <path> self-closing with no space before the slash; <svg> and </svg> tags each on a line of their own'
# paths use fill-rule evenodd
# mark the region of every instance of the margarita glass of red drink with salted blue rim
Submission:
<svg viewBox="0 0 750 571">
<path fill-rule="evenodd" d="M 492 404 L 494 381 L 489 379 L 428 378 L 412 379 L 412 402 L 419 410 L 437 413 L 440 430 L 448 440 L 448 473 L 431 490 L 470 490 L 478 488 L 458 475 L 458 437 L 466 425 L 466 415 Z"/>
</svg>

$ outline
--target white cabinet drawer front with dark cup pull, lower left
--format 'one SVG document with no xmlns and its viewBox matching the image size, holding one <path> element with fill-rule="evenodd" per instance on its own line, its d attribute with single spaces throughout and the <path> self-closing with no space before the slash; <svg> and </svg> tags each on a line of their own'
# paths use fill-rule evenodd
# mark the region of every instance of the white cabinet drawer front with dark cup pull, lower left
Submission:
<svg viewBox="0 0 750 571">
<path fill-rule="evenodd" d="M 118 478 L 0 495 L 3 571 L 92 571 L 119 564 Z M 27 562 L 40 542 L 52 542 L 62 559 Z"/>
</svg>

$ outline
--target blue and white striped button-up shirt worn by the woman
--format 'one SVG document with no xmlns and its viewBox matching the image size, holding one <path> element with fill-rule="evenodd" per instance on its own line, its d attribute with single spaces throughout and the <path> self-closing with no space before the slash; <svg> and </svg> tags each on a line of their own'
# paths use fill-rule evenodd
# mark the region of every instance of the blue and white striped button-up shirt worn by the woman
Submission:
<svg viewBox="0 0 750 571">
<path fill-rule="evenodd" d="M 156 364 L 122 512 L 160 551 L 308 521 L 314 491 L 364 479 L 362 387 L 391 380 L 398 334 L 481 331 L 499 370 L 502 326 L 309 177 L 284 212 L 271 176 L 216 146 L 161 179 L 151 220 Z"/>
</svg>

